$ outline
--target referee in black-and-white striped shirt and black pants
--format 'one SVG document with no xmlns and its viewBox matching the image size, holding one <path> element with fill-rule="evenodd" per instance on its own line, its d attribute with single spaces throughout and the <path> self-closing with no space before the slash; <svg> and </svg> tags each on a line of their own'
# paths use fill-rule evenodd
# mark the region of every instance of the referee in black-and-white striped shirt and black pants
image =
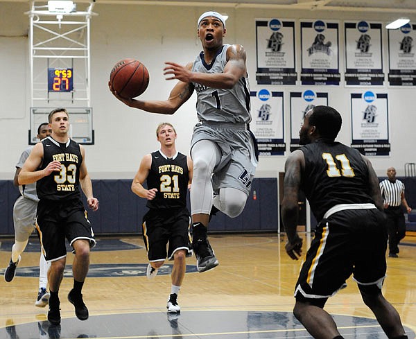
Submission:
<svg viewBox="0 0 416 339">
<path fill-rule="evenodd" d="M 387 169 L 387 179 L 380 182 L 380 191 L 384 199 L 384 211 L 388 223 L 388 249 L 390 258 L 399 257 L 399 242 L 406 235 L 406 223 L 404 214 L 401 210 L 401 204 L 406 207 L 410 213 L 409 207 L 404 197 L 404 183 L 396 179 L 396 170 L 394 167 Z"/>
</svg>

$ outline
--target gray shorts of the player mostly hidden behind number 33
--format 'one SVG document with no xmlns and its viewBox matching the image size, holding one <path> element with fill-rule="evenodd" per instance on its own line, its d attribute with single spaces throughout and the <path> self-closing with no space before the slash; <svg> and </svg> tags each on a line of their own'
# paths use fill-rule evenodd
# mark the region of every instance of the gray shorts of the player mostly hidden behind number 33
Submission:
<svg viewBox="0 0 416 339">
<path fill-rule="evenodd" d="M 35 229 L 37 202 L 23 196 L 17 198 L 13 206 L 13 223 L 15 226 L 15 240 L 27 241 Z"/>
</svg>

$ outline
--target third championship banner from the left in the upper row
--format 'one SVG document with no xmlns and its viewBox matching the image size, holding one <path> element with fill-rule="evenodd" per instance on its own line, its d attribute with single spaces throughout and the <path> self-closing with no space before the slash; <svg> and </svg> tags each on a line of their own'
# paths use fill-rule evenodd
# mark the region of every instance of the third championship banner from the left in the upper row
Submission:
<svg viewBox="0 0 416 339">
<path fill-rule="evenodd" d="M 381 24 L 345 22 L 345 85 L 383 85 Z"/>
</svg>

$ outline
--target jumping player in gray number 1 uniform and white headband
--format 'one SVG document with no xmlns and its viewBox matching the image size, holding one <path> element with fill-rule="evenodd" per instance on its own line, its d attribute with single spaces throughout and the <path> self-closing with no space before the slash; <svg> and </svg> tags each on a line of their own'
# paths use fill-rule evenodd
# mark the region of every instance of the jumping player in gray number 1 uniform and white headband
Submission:
<svg viewBox="0 0 416 339">
<path fill-rule="evenodd" d="M 203 51 L 196 60 L 185 67 L 166 62 L 166 80 L 180 80 L 166 101 L 121 98 L 110 82 L 109 86 L 125 105 L 161 114 L 176 112 L 196 90 L 199 122 L 191 141 L 192 246 L 198 271 L 204 272 L 218 266 L 207 239 L 211 208 L 214 204 L 231 218 L 241 214 L 257 167 L 257 147 L 249 130 L 250 90 L 243 46 L 223 44 L 225 19 L 218 12 L 203 13 L 197 28 Z"/>
</svg>

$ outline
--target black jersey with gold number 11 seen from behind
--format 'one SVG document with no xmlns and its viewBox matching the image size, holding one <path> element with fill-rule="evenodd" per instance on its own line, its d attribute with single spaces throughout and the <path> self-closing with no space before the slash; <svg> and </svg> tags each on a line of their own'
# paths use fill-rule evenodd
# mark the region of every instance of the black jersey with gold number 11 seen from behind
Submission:
<svg viewBox="0 0 416 339">
<path fill-rule="evenodd" d="M 358 150 L 327 140 L 300 150 L 305 158 L 301 188 L 318 220 L 335 205 L 374 203 L 367 164 Z"/>
</svg>

